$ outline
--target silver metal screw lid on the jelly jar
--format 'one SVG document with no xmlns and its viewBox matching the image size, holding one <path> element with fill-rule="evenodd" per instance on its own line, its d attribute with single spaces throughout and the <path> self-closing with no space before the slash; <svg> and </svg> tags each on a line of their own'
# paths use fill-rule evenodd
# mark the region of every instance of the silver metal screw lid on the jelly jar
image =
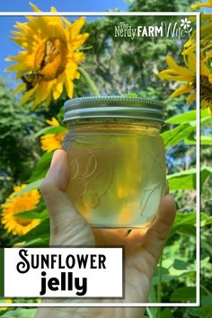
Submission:
<svg viewBox="0 0 212 318">
<path fill-rule="evenodd" d="M 65 102 L 64 121 L 74 119 L 146 119 L 163 121 L 163 102 L 141 97 L 100 96 Z"/>
</svg>

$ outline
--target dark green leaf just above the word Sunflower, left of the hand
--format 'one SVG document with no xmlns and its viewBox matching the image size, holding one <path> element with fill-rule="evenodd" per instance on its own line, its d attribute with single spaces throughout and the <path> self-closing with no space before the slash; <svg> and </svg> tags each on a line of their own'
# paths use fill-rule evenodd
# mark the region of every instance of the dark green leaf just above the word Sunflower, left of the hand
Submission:
<svg viewBox="0 0 212 318">
<path fill-rule="evenodd" d="M 30 232 L 28 232 L 25 235 L 19 236 L 14 240 L 14 243 L 19 242 L 30 242 L 32 240 L 38 239 L 38 238 L 46 238 L 49 235 L 50 227 L 49 227 L 49 218 L 45 218 L 40 225 L 36 226 L 35 228 L 32 228 Z"/>
</svg>

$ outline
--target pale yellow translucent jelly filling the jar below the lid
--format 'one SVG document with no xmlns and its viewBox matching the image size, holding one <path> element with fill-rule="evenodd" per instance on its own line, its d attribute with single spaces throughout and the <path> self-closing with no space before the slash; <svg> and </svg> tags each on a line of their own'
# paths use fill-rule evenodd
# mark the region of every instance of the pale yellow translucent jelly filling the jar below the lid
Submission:
<svg viewBox="0 0 212 318">
<path fill-rule="evenodd" d="M 70 126 L 66 192 L 93 227 L 143 227 L 155 218 L 165 192 L 165 158 L 153 126 L 132 120 Z"/>
</svg>

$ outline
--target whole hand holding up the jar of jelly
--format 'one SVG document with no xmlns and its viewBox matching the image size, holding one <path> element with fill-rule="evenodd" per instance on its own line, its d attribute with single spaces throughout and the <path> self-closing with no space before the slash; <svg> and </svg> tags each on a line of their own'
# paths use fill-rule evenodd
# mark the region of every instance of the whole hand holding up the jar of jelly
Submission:
<svg viewBox="0 0 212 318">
<path fill-rule="evenodd" d="M 125 293 L 123 302 L 146 303 L 150 280 L 160 258 L 163 246 L 172 228 L 175 204 L 166 195 L 158 208 L 152 225 L 145 229 L 127 230 L 92 229 L 74 208 L 66 196 L 69 168 L 66 152 L 57 150 L 53 156 L 49 172 L 40 187 L 50 216 L 50 245 L 124 245 Z M 55 298 L 50 300 L 56 302 Z M 58 302 L 73 302 L 71 298 L 57 299 Z M 88 300 L 85 300 L 88 302 Z M 100 302 L 100 300 L 93 300 Z M 82 299 L 81 299 L 82 302 Z M 104 302 L 120 302 L 111 298 Z M 103 305 L 103 304 L 102 304 Z M 36 318 L 141 318 L 145 308 L 40 308 Z"/>
</svg>

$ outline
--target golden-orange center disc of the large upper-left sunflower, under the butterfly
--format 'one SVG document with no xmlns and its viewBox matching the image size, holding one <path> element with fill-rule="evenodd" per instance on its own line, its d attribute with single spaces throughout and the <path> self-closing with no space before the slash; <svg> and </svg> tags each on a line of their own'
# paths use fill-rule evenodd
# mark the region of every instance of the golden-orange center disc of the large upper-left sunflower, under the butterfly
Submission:
<svg viewBox="0 0 212 318">
<path fill-rule="evenodd" d="M 66 68 L 67 47 L 61 39 L 43 41 L 35 52 L 34 68 L 44 81 L 57 78 Z"/>
</svg>

